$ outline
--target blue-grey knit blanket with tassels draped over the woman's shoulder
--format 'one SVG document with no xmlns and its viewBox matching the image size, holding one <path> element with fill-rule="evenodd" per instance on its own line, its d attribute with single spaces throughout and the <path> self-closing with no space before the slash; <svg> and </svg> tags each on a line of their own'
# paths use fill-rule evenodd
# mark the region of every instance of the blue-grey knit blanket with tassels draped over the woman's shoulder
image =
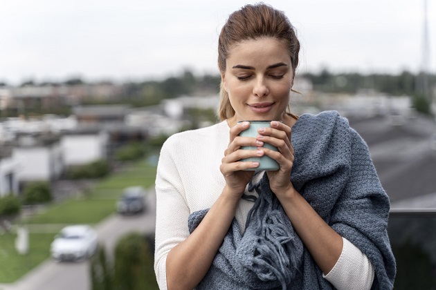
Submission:
<svg viewBox="0 0 436 290">
<path fill-rule="evenodd" d="M 367 145 L 337 112 L 305 114 L 292 128 L 291 181 L 315 211 L 361 249 L 375 269 L 372 289 L 392 289 L 395 261 L 386 227 L 389 199 Z M 334 289 L 293 230 L 266 174 L 242 235 L 236 220 L 196 289 Z M 208 209 L 192 213 L 190 233 Z"/>
</svg>

